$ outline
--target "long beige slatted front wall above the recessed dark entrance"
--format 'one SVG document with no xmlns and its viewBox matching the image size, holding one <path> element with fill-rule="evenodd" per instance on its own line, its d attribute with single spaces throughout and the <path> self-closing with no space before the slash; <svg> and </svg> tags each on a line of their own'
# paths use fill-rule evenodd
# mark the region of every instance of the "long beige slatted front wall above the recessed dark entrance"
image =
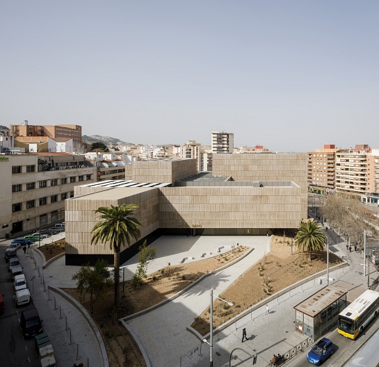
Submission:
<svg viewBox="0 0 379 367">
<path fill-rule="evenodd" d="M 161 228 L 296 228 L 306 218 L 300 187 L 164 187 Z"/>
</svg>

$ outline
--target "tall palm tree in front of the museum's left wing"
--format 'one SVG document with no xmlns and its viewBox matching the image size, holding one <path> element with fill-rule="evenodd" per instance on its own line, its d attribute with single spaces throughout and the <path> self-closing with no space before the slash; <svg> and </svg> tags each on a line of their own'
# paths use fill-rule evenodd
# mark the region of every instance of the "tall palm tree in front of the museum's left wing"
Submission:
<svg viewBox="0 0 379 367">
<path fill-rule="evenodd" d="M 138 240 L 140 237 L 140 222 L 131 214 L 138 209 L 137 205 L 122 204 L 120 206 L 101 206 L 95 211 L 100 213 L 96 219 L 102 219 L 92 228 L 92 243 L 97 245 L 108 243 L 114 255 L 114 272 L 115 272 L 115 309 L 120 307 L 120 248 L 127 243 L 130 246 L 131 238 Z"/>
</svg>

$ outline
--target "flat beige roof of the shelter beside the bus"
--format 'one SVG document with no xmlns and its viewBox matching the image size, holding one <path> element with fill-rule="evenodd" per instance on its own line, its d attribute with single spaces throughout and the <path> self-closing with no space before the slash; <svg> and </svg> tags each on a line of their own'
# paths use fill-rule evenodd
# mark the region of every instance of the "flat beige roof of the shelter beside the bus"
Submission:
<svg viewBox="0 0 379 367">
<path fill-rule="evenodd" d="M 321 291 L 314 293 L 314 295 L 311 295 L 309 298 L 293 308 L 305 313 L 308 316 L 314 317 L 346 293 L 348 293 L 346 289 L 337 288 L 334 286 L 326 286 L 325 288 L 321 289 Z"/>
</svg>

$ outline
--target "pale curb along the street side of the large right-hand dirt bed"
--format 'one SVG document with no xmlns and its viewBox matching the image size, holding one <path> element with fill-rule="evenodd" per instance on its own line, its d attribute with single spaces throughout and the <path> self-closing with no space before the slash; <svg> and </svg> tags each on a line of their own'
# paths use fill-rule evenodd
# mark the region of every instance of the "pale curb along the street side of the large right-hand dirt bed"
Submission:
<svg viewBox="0 0 379 367">
<path fill-rule="evenodd" d="M 346 261 L 344 261 L 344 263 L 338 264 L 338 265 L 330 268 L 329 273 L 334 271 L 334 270 L 344 268 L 346 266 L 348 266 L 348 263 Z M 288 286 L 287 288 L 283 288 L 281 291 L 274 293 L 273 295 L 271 295 L 269 297 L 266 297 L 264 300 L 261 300 L 261 302 L 258 302 L 257 304 L 250 307 L 249 309 L 246 309 L 245 311 L 234 316 L 234 318 L 227 320 L 226 323 L 223 323 L 222 325 L 213 328 L 213 335 L 217 334 L 218 332 L 220 332 L 223 329 L 226 329 L 230 325 L 234 324 L 237 320 L 240 320 L 241 318 L 248 315 L 250 312 L 255 311 L 256 309 L 259 309 L 259 307 L 262 307 L 264 304 L 275 300 L 277 297 L 280 297 L 281 295 L 284 295 L 284 293 L 287 293 L 288 291 L 291 291 L 292 289 L 297 288 L 298 286 L 301 286 L 301 285 L 309 282 L 310 280 L 317 279 L 318 277 L 321 277 L 322 275 L 325 275 L 325 274 L 326 274 L 326 270 L 322 270 L 321 272 L 317 272 L 314 275 L 311 275 L 305 279 L 299 280 L 298 282 L 291 284 L 291 286 Z M 188 325 L 186 327 L 186 330 L 187 330 L 187 332 L 190 332 L 191 334 L 196 336 L 196 338 L 199 339 L 200 341 L 203 341 L 204 339 L 209 339 L 209 336 L 211 334 L 209 332 L 208 334 L 205 334 L 204 336 L 202 336 L 199 332 L 197 332 L 195 329 L 193 329 L 193 327 L 191 327 L 191 325 Z"/>
</svg>

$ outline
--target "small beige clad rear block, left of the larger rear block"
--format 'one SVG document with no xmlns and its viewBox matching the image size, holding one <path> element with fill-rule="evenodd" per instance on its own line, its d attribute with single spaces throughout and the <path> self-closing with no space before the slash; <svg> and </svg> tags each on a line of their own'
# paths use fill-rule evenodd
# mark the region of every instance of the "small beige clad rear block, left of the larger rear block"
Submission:
<svg viewBox="0 0 379 367">
<path fill-rule="evenodd" d="M 134 182 L 174 182 L 197 172 L 196 159 L 157 159 L 133 162 Z"/>
</svg>

